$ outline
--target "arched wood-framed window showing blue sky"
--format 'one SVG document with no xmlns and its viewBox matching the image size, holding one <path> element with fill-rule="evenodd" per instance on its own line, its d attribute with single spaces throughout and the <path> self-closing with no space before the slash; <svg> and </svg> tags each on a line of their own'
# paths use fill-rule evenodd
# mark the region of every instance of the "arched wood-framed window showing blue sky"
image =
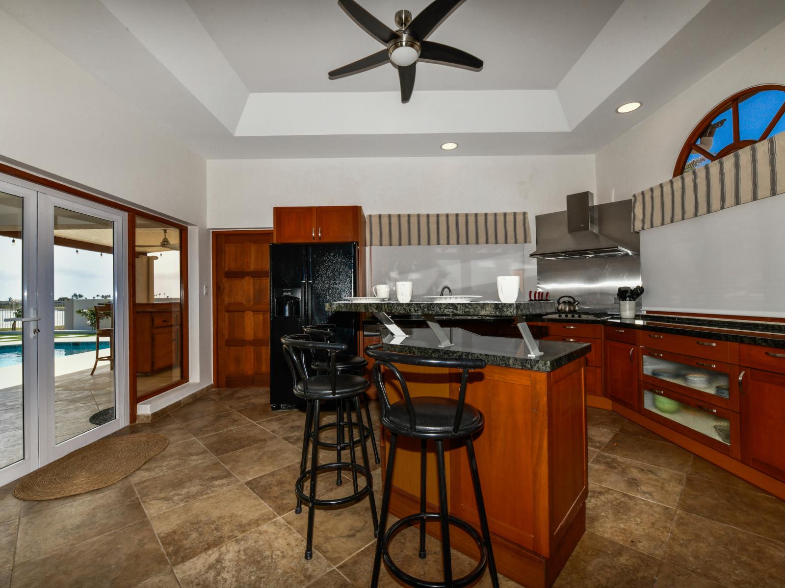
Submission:
<svg viewBox="0 0 785 588">
<path fill-rule="evenodd" d="M 717 104 L 687 137 L 674 177 L 785 131 L 785 85 L 747 88 Z"/>
</svg>

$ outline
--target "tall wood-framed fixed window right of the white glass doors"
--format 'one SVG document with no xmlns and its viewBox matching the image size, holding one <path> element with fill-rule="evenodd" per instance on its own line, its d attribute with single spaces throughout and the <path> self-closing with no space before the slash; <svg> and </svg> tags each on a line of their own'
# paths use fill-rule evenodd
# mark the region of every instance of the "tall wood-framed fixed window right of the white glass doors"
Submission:
<svg viewBox="0 0 785 588">
<path fill-rule="evenodd" d="M 133 370 L 136 401 L 188 381 L 185 227 L 133 216 Z"/>
</svg>

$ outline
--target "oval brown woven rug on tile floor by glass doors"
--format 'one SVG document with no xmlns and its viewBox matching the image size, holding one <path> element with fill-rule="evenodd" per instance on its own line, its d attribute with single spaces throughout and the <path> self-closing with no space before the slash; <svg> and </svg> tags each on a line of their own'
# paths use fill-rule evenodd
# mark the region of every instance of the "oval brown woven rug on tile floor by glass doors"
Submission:
<svg viewBox="0 0 785 588">
<path fill-rule="evenodd" d="M 22 500 L 51 500 L 104 488 L 138 470 L 166 445 L 169 440 L 155 433 L 105 437 L 27 474 L 13 495 Z"/>
</svg>

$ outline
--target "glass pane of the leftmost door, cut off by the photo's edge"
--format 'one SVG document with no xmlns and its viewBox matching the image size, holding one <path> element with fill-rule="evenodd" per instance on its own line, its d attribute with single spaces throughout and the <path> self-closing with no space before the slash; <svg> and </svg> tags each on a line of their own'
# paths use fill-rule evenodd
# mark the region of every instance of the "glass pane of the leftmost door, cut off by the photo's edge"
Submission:
<svg viewBox="0 0 785 588">
<path fill-rule="evenodd" d="M 0 469 L 24 459 L 23 209 L 0 192 Z"/>
</svg>

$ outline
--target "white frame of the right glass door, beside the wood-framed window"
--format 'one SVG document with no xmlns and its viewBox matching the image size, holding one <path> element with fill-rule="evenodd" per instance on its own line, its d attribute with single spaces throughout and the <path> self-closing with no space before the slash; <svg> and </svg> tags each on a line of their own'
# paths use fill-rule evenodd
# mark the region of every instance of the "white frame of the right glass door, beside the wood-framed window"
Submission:
<svg viewBox="0 0 785 588">
<path fill-rule="evenodd" d="M 114 223 L 112 239 L 114 262 L 114 313 L 115 328 L 115 419 L 97 426 L 85 433 L 75 435 L 59 445 L 55 443 L 55 412 L 54 412 L 54 356 L 53 345 L 49 334 L 54 332 L 54 311 L 49 312 L 49 305 L 54 304 L 54 207 L 82 212 L 88 216 L 110 220 Z M 46 309 L 42 314 L 38 328 L 46 337 L 38 338 L 38 430 L 39 455 L 41 463 L 49 463 L 75 449 L 89 445 L 101 437 L 122 429 L 128 424 L 128 289 L 126 284 L 127 213 L 111 207 L 86 201 L 83 198 L 55 190 L 38 191 L 38 299 L 39 307 Z"/>
</svg>

